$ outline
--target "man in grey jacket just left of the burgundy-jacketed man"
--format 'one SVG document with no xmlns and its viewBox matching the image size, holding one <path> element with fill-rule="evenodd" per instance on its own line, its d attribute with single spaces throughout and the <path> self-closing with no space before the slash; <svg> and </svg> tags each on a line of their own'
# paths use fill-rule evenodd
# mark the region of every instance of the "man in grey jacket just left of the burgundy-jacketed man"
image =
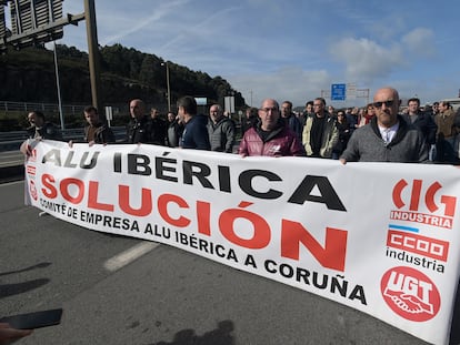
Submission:
<svg viewBox="0 0 460 345">
<path fill-rule="evenodd" d="M 236 134 L 234 122 L 223 115 L 219 104 L 212 104 L 209 109 L 207 126 L 211 151 L 232 153 Z"/>
</svg>

